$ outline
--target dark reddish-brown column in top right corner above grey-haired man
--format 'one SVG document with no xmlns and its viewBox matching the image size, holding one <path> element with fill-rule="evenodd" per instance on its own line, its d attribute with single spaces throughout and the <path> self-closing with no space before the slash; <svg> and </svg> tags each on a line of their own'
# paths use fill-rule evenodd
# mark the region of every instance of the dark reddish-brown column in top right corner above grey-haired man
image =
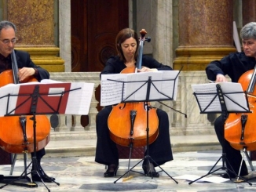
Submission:
<svg viewBox="0 0 256 192">
<path fill-rule="evenodd" d="M 256 0 L 242 1 L 243 25 L 256 21 Z"/>
</svg>

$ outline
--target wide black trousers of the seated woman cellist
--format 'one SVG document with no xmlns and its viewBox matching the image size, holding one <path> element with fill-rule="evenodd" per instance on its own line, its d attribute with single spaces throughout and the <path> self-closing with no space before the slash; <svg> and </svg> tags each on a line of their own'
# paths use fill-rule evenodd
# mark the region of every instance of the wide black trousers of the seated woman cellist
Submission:
<svg viewBox="0 0 256 192">
<path fill-rule="evenodd" d="M 97 114 L 96 119 L 97 147 L 95 161 L 104 165 L 119 164 L 116 143 L 110 139 L 108 130 L 108 115 L 111 110 L 112 107 L 105 107 Z M 165 111 L 157 109 L 156 113 L 159 118 L 159 136 L 149 145 L 149 155 L 158 165 L 163 165 L 165 162 L 173 160 L 169 120 Z"/>
</svg>

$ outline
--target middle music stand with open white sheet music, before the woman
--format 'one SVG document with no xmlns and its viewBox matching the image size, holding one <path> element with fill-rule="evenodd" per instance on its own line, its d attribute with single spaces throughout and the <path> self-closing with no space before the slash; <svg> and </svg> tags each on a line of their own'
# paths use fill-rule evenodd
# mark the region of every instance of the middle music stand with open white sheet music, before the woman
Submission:
<svg viewBox="0 0 256 192">
<path fill-rule="evenodd" d="M 119 76 L 123 76 L 123 78 L 126 78 L 126 74 L 117 74 L 116 75 L 112 75 L 109 76 L 107 74 L 107 76 L 102 75 L 101 76 L 101 101 L 104 100 L 104 97 L 108 98 L 108 100 L 110 100 L 110 102 L 113 102 L 112 98 L 109 98 L 109 96 L 115 96 L 115 93 L 113 93 L 113 89 L 111 89 L 112 93 L 110 95 L 108 95 L 108 93 L 106 94 L 106 91 L 108 89 L 108 87 L 110 86 L 108 83 L 106 82 L 113 82 L 113 84 L 115 85 L 111 85 L 111 87 L 119 87 L 120 90 L 117 90 L 117 92 L 122 92 L 120 94 L 119 97 L 119 101 L 115 100 L 114 102 L 117 103 L 134 103 L 134 102 L 144 102 L 144 103 L 148 103 L 151 101 L 159 101 L 159 100 L 174 100 L 174 98 L 176 99 L 176 94 L 177 94 L 177 76 L 180 73 L 180 71 L 161 71 L 161 72 L 147 72 L 147 73 L 138 73 L 138 74 L 128 74 L 129 76 L 137 76 L 135 78 L 139 79 L 138 81 L 130 81 L 130 79 L 135 79 L 134 77 L 127 77 L 126 80 L 118 80 Z M 140 77 L 141 75 L 141 77 Z M 109 76 L 109 78 L 108 78 Z M 174 78 L 170 78 L 170 77 L 174 77 Z M 115 78 L 115 79 L 114 79 Z M 122 79 L 122 78 L 121 78 Z M 142 80 L 141 80 L 142 79 Z M 106 81 L 107 80 L 107 81 Z M 107 85 L 106 85 L 107 84 Z M 120 84 L 120 85 L 118 85 Z M 105 88 L 106 86 L 106 88 Z M 108 103 L 109 105 L 110 103 Z M 112 103 L 115 104 L 115 103 Z M 101 103 L 102 105 L 102 103 Z M 148 142 L 148 132 L 149 132 L 149 127 L 148 127 L 148 110 L 149 110 L 149 106 L 148 104 L 145 104 L 145 108 L 146 108 L 146 114 L 147 114 L 147 128 L 146 128 L 146 132 L 147 132 L 147 136 L 146 136 L 146 147 L 147 147 L 147 154 L 144 156 L 143 159 L 141 159 L 141 161 L 146 161 L 147 162 L 147 167 L 150 168 L 149 163 L 150 161 L 152 161 L 153 163 L 155 163 L 155 165 L 157 165 L 163 172 L 166 173 L 167 176 L 169 176 L 171 179 L 174 180 L 175 183 L 177 183 L 177 181 L 171 177 L 163 168 L 161 168 L 160 165 L 158 165 L 154 159 L 152 159 L 152 157 L 149 155 L 149 142 Z M 132 141 L 131 141 L 132 142 Z M 131 147 L 133 147 L 133 144 L 130 143 L 130 149 Z M 132 172 L 136 172 L 133 171 L 133 168 L 136 167 L 138 164 L 141 163 L 141 161 L 137 162 L 136 165 L 134 165 L 132 168 L 130 168 L 130 162 L 129 162 L 129 167 L 127 172 L 125 172 L 123 174 L 123 176 L 125 176 L 127 173 L 129 174 L 130 171 Z M 140 174 L 141 172 L 137 172 Z M 147 176 L 152 176 L 152 172 L 151 169 L 148 170 Z M 123 176 L 120 176 L 119 179 L 121 179 Z M 152 176 L 153 178 L 153 176 Z M 116 179 L 114 181 L 114 183 L 116 183 L 119 179 Z"/>
</svg>

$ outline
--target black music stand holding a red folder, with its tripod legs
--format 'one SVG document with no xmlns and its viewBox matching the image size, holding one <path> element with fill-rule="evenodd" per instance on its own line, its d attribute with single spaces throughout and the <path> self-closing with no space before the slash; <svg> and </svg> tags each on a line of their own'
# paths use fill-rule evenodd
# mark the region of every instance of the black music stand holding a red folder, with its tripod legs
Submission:
<svg viewBox="0 0 256 192">
<path fill-rule="evenodd" d="M 70 89 L 71 83 L 49 83 L 49 84 L 20 84 L 19 92 L 16 94 L 9 93 L 5 96 L 0 97 L 1 99 L 7 100 L 6 105 L 6 112 L 4 116 L 24 116 L 24 115 L 32 115 L 30 118 L 33 121 L 33 156 L 32 161 L 29 165 L 24 163 L 25 169 L 24 172 L 20 176 L 7 176 L 4 179 L 0 179 L 0 183 L 5 183 L 5 185 L 1 186 L 0 189 L 3 187 L 13 184 L 22 187 L 38 187 L 38 185 L 31 180 L 31 183 L 24 184 L 24 183 L 15 183 L 19 179 L 29 179 L 27 177 L 28 174 L 33 173 L 37 174 L 39 178 L 41 178 L 40 174 L 38 173 L 38 161 L 36 158 L 36 115 L 38 114 L 60 114 L 63 113 L 63 106 L 64 108 L 68 102 L 68 94 L 71 91 L 75 91 L 81 88 Z M 62 91 L 60 91 L 60 89 Z M 55 89 L 55 91 L 53 90 Z M 13 99 L 16 100 L 15 107 L 12 106 Z M 23 124 L 24 122 L 20 122 Z M 31 145 L 27 141 L 26 130 L 23 129 L 24 133 L 24 150 L 27 150 L 27 147 Z M 25 155 L 25 154 L 24 154 Z M 27 173 L 27 168 L 33 163 L 35 166 L 35 170 Z M 9 179 L 9 180 L 5 180 Z M 55 182 L 54 180 L 50 179 L 53 183 L 60 185 L 60 183 Z M 46 187 L 46 184 L 42 183 Z M 49 188 L 46 187 L 48 191 Z"/>
</svg>

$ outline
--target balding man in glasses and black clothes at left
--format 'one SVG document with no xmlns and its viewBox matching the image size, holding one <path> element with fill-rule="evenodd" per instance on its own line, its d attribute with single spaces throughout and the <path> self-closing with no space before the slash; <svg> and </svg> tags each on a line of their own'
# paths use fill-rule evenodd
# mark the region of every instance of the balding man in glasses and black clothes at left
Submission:
<svg viewBox="0 0 256 192">
<path fill-rule="evenodd" d="M 5 70 L 12 69 L 12 60 L 11 53 L 14 50 L 14 45 L 16 43 L 16 26 L 7 21 L 3 20 L 0 22 L 0 73 Z M 16 62 L 20 71 L 18 72 L 18 77 L 20 82 L 22 82 L 25 78 L 34 75 L 37 78 L 38 82 L 40 82 L 44 78 L 49 78 L 49 73 L 45 69 L 38 67 L 31 61 L 31 58 L 28 53 L 23 51 L 15 50 Z M 1 129 L 1 128 L 0 128 Z M 46 175 L 46 172 L 43 171 L 41 163 L 41 158 L 46 154 L 45 149 L 38 150 L 36 152 L 36 158 L 38 161 L 38 173 L 42 177 L 44 182 L 52 182 L 54 180 L 53 177 L 49 177 Z M 33 157 L 33 153 L 31 153 L 31 157 Z M 35 165 L 32 166 L 32 170 L 35 169 Z M 39 176 L 32 175 L 32 179 L 34 181 L 41 181 Z"/>
</svg>

